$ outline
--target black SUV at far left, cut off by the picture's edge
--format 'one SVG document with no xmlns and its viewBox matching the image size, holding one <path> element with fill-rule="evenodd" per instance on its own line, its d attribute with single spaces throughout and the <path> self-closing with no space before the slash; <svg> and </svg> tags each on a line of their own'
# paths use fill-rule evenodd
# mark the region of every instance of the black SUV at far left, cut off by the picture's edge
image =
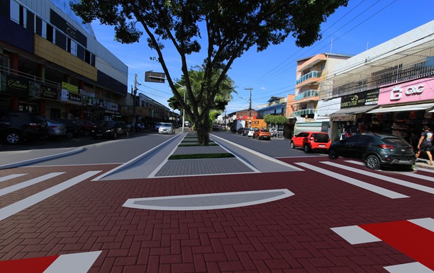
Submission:
<svg viewBox="0 0 434 273">
<path fill-rule="evenodd" d="M 0 136 L 9 144 L 18 144 L 25 139 L 48 136 L 45 119 L 30 112 L 9 112 L 0 114 Z"/>
</svg>

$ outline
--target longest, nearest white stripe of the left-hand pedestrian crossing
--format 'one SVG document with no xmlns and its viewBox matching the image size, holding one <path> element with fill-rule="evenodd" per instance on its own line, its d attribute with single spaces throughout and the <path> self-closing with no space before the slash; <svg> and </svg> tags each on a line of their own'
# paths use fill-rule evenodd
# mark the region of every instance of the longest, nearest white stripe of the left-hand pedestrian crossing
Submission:
<svg viewBox="0 0 434 273">
<path fill-rule="evenodd" d="M 62 182 L 59 185 L 55 185 L 53 187 L 50 187 L 47 190 L 43 190 L 42 192 L 38 192 L 18 202 L 10 204 L 9 206 L 3 207 L 0 209 L 0 221 L 8 218 L 9 216 L 12 216 L 13 214 L 22 211 L 23 209 L 27 209 L 28 207 L 31 207 L 34 204 L 37 204 L 47 199 L 48 197 L 52 197 L 52 195 L 62 192 L 62 190 L 66 190 L 69 187 L 77 185 L 79 182 L 82 182 L 87 178 L 91 178 L 92 176 L 100 172 L 101 170 L 92 170 L 87 173 L 83 173 L 82 175 L 78 175 L 75 178 Z"/>
</svg>

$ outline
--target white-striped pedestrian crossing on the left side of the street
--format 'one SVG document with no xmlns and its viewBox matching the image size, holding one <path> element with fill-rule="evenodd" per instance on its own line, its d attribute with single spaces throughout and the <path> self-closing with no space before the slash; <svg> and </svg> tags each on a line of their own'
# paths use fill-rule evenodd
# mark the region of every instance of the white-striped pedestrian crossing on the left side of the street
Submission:
<svg viewBox="0 0 434 273">
<path fill-rule="evenodd" d="M 6 205 L 5 207 L 1 207 L 0 221 L 8 218 L 9 216 L 12 216 L 13 214 L 23 211 L 24 209 L 27 209 L 28 207 L 31 207 L 34 204 L 38 204 L 39 202 L 42 202 L 43 200 L 52 197 L 53 195 L 62 192 L 63 190 L 67 190 L 69 187 L 77 185 L 79 182 L 87 180 L 100 172 L 101 170 L 87 171 L 85 173 L 77 175 L 74 178 L 68 179 L 64 182 L 58 183 L 57 185 L 49 187 L 46 190 L 35 192 L 34 194 L 31 194 L 30 196 L 23 198 L 17 202 L 13 202 L 11 204 Z M 38 183 L 48 181 L 52 178 L 57 178 L 58 176 L 64 173 L 65 172 L 47 173 L 45 175 L 40 175 L 36 178 L 31 178 L 30 180 L 26 180 L 24 182 L 17 182 L 9 187 L 1 188 L 0 197 L 7 194 L 11 194 L 12 192 L 18 192 L 19 190 L 26 189 Z M 23 175 L 28 175 L 28 174 L 19 173 L 14 175 L 5 175 L 4 177 L 0 177 L 0 182 L 13 182 L 14 179 L 23 177 Z"/>
</svg>

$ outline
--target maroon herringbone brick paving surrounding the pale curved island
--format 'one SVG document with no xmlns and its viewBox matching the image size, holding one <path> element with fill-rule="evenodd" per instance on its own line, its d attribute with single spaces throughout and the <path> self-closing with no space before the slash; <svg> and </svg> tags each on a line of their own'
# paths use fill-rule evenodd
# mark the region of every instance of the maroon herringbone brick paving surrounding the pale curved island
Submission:
<svg viewBox="0 0 434 273">
<path fill-rule="evenodd" d="M 386 272 L 383 267 L 415 262 L 384 242 L 350 245 L 330 228 L 433 217 L 433 194 L 333 168 L 318 158 L 284 161 L 317 165 L 409 197 L 390 199 L 307 169 L 87 180 L 1 221 L 0 260 L 102 250 L 90 272 Z M 343 158 L 333 162 L 351 165 Z M 1 174 L 75 175 L 109 168 L 113 166 L 15 168 Z M 420 178 L 386 175 L 432 187 L 432 182 Z M 122 207 L 129 198 L 282 188 L 294 196 L 232 209 Z"/>
</svg>

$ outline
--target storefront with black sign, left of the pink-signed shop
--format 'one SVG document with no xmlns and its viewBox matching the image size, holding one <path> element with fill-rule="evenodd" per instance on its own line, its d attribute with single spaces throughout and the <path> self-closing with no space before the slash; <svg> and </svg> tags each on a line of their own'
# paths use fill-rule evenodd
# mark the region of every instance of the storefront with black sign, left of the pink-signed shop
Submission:
<svg viewBox="0 0 434 273">
<path fill-rule="evenodd" d="M 377 108 L 378 100 L 379 89 L 343 96 L 340 110 L 331 114 L 330 139 L 338 141 L 343 135 L 371 132 L 377 125 L 366 112 Z"/>
</svg>

